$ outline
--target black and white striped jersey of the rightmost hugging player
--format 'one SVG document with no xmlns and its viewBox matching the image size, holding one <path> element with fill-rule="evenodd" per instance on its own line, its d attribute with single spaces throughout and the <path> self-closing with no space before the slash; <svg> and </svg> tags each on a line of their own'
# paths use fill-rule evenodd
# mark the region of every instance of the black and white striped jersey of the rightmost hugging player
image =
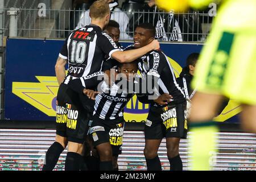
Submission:
<svg viewBox="0 0 256 182">
<path fill-rule="evenodd" d="M 125 50 L 128 49 L 134 49 L 134 47 L 129 46 Z M 142 78 L 147 79 L 148 76 L 154 76 L 157 79 L 159 95 L 168 93 L 173 97 L 173 101 L 185 100 L 185 95 L 176 82 L 174 69 L 162 51 L 151 51 L 142 56 L 139 59 L 138 68 Z M 155 103 L 154 106 L 158 106 L 158 104 Z"/>
</svg>

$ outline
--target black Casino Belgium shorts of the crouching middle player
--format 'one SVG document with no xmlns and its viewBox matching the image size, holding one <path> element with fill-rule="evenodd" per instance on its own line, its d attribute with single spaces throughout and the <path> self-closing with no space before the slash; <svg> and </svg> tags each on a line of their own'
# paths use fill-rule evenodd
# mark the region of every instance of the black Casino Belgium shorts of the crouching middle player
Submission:
<svg viewBox="0 0 256 182">
<path fill-rule="evenodd" d="M 92 126 L 89 130 L 93 146 L 96 147 L 101 143 L 109 142 L 112 146 L 113 156 L 118 156 L 122 153 L 124 128 L 125 119 L 123 117 L 112 120 L 93 117 Z"/>
</svg>

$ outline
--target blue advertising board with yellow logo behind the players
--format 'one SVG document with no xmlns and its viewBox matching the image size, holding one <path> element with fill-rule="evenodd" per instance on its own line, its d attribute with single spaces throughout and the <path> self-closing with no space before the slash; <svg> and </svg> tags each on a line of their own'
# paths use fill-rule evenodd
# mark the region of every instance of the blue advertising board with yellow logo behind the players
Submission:
<svg viewBox="0 0 256 182">
<path fill-rule="evenodd" d="M 55 63 L 64 40 L 8 39 L 6 45 L 5 119 L 54 121 L 59 85 Z M 124 47 L 131 43 L 122 43 Z M 160 48 L 178 77 L 187 56 L 200 52 L 201 44 L 163 43 Z M 148 105 L 134 97 L 125 108 L 127 122 L 143 122 Z M 240 106 L 230 101 L 216 121 L 237 122 Z"/>
</svg>

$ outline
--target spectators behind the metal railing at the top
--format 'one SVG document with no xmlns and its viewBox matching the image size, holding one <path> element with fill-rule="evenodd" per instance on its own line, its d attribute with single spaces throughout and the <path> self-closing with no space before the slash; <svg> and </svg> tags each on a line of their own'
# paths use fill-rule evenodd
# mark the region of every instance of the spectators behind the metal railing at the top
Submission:
<svg viewBox="0 0 256 182">
<path fill-rule="evenodd" d="M 74 0 L 73 9 L 82 10 L 75 18 L 74 29 L 90 23 L 89 7 L 95 0 Z M 171 42 L 200 42 L 204 40 L 202 17 L 198 11 L 185 14 L 174 11 L 164 13 L 155 6 L 154 0 L 106 0 L 111 19 L 119 23 L 121 40 L 132 40 L 135 27 L 141 23 L 152 23 L 156 28 L 156 39 Z M 211 20 L 211 19 L 210 19 Z M 209 17 L 207 19 L 209 23 Z"/>
</svg>

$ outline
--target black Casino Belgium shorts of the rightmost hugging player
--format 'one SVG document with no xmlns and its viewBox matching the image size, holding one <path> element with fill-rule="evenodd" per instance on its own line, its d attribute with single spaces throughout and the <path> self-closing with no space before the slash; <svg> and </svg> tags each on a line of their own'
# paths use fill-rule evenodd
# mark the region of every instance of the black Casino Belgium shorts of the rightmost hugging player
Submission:
<svg viewBox="0 0 256 182">
<path fill-rule="evenodd" d="M 187 138 L 186 102 L 151 106 L 144 128 L 145 139 Z"/>
</svg>

